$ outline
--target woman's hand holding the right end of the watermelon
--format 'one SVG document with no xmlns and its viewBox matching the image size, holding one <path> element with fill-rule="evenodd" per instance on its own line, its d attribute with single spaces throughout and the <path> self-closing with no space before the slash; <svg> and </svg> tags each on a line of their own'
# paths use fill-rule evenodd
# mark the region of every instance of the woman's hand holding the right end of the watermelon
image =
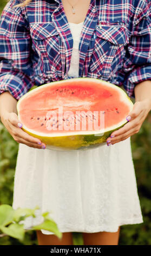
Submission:
<svg viewBox="0 0 151 256">
<path fill-rule="evenodd" d="M 133 110 L 127 116 L 128 123 L 119 130 L 111 133 L 107 138 L 107 145 L 114 145 L 117 142 L 124 141 L 128 137 L 139 132 L 143 121 L 146 119 L 151 108 L 150 100 L 136 101 Z"/>
</svg>

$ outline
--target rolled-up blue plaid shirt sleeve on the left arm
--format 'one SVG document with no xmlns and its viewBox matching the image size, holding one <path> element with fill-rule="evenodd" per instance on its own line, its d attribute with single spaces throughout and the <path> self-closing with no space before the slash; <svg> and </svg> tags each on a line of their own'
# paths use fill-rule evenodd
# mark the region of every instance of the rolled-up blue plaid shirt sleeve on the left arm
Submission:
<svg viewBox="0 0 151 256">
<path fill-rule="evenodd" d="M 21 8 L 11 0 L 0 21 L 0 93 L 8 91 L 17 100 L 34 86 L 31 38 Z"/>
</svg>

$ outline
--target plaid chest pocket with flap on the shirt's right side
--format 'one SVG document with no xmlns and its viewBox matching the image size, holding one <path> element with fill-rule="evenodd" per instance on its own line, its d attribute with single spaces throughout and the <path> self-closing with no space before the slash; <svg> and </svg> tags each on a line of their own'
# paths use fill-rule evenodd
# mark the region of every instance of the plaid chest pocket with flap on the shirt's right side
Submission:
<svg viewBox="0 0 151 256">
<path fill-rule="evenodd" d="M 96 27 L 95 45 L 91 57 L 90 70 L 101 77 L 109 78 L 117 70 L 129 42 L 126 25 L 101 24 Z M 112 64 L 116 63 L 114 70 Z"/>
</svg>

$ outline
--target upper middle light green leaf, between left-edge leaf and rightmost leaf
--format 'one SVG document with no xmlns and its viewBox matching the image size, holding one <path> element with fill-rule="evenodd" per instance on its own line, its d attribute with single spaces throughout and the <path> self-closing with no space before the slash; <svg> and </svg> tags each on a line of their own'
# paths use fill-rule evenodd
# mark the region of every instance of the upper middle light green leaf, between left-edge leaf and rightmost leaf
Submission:
<svg viewBox="0 0 151 256">
<path fill-rule="evenodd" d="M 39 209 L 38 206 L 36 206 L 34 209 L 18 208 L 14 211 L 13 220 L 16 222 L 19 222 L 19 221 L 23 220 L 25 217 L 32 216 L 35 218 L 35 210 L 37 210 L 37 209 Z"/>
</svg>

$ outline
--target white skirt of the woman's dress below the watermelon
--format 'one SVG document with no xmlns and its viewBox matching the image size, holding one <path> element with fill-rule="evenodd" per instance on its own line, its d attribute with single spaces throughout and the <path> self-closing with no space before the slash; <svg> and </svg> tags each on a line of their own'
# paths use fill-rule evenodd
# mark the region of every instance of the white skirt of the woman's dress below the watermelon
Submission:
<svg viewBox="0 0 151 256">
<path fill-rule="evenodd" d="M 120 225 L 142 223 L 130 138 L 69 152 L 19 144 L 12 207 L 36 205 L 40 210 L 23 221 L 25 229 L 41 223 L 44 211 L 61 232 L 116 232 Z"/>
</svg>

